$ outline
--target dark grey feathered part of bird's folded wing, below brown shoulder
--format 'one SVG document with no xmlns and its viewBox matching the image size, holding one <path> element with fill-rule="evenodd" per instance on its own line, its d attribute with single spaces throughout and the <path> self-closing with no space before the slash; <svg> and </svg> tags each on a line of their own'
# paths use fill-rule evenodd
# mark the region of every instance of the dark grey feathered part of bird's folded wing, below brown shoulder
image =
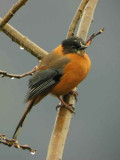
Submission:
<svg viewBox="0 0 120 160">
<path fill-rule="evenodd" d="M 37 71 L 29 80 L 29 90 L 25 102 L 55 86 L 62 76 L 62 69 Z"/>
</svg>

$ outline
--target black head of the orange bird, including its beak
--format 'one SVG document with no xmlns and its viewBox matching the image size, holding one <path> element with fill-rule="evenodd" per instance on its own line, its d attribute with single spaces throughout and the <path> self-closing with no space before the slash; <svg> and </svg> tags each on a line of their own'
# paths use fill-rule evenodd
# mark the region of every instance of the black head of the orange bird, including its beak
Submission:
<svg viewBox="0 0 120 160">
<path fill-rule="evenodd" d="M 85 42 L 78 37 L 71 37 L 62 41 L 63 52 L 67 53 L 80 53 L 80 50 L 87 48 Z"/>
</svg>

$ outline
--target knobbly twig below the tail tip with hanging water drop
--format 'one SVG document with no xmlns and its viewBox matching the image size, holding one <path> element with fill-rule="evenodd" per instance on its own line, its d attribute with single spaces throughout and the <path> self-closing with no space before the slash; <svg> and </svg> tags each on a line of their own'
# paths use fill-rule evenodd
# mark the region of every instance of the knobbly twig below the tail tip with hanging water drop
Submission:
<svg viewBox="0 0 120 160">
<path fill-rule="evenodd" d="M 8 147 L 14 146 L 17 149 L 28 150 L 28 151 L 30 151 L 31 154 L 35 154 L 36 153 L 36 150 L 32 149 L 30 146 L 28 146 L 28 145 L 20 145 L 20 144 L 18 144 L 17 140 L 8 139 L 8 138 L 5 137 L 4 134 L 0 135 L 0 143 L 6 145 Z"/>
</svg>

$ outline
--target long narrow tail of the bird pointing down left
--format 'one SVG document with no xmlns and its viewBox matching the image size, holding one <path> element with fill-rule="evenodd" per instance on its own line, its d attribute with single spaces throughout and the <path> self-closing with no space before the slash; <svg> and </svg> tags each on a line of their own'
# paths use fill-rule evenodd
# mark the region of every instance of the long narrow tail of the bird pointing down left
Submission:
<svg viewBox="0 0 120 160">
<path fill-rule="evenodd" d="M 29 112 L 31 111 L 31 109 L 32 109 L 32 107 L 33 107 L 33 105 L 34 105 L 35 100 L 36 100 L 36 98 L 33 98 L 33 99 L 30 100 L 30 102 L 29 102 L 26 110 L 24 111 L 24 113 L 23 113 L 23 115 L 22 115 L 21 120 L 19 121 L 19 123 L 18 123 L 18 125 L 17 125 L 17 127 L 16 127 L 16 130 L 15 130 L 15 132 L 14 132 L 14 134 L 13 134 L 13 137 L 12 137 L 13 139 L 17 139 L 18 134 L 19 134 L 19 132 L 20 132 L 20 130 L 21 130 L 21 128 L 22 128 L 22 125 L 23 125 L 25 119 L 27 118 Z"/>
</svg>

